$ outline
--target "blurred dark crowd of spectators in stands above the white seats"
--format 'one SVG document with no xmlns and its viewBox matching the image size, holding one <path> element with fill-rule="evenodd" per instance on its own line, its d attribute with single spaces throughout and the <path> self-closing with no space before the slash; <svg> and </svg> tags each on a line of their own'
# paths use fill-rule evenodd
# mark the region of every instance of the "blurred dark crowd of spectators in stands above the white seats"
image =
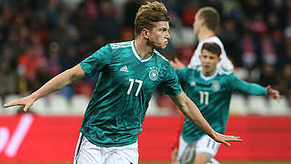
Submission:
<svg viewBox="0 0 291 164">
<path fill-rule="evenodd" d="M 107 43 L 134 38 L 145 0 L 0 0 L 0 96 L 27 95 Z M 167 0 L 172 39 L 162 54 L 187 64 L 198 8 L 221 15 L 217 36 L 246 80 L 272 85 L 291 102 L 291 0 Z M 59 94 L 91 96 L 96 77 Z M 5 102 L 5 101 L 2 101 Z"/>
</svg>

